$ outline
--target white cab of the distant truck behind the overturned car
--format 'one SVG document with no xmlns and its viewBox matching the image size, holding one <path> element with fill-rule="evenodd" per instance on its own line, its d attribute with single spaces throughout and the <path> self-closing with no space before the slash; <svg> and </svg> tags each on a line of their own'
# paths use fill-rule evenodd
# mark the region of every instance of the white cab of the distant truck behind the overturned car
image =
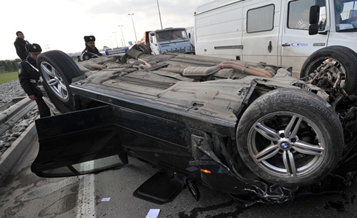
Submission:
<svg viewBox="0 0 357 218">
<path fill-rule="evenodd" d="M 149 32 L 152 55 L 165 52 L 189 53 L 192 50 L 185 28 L 165 28 Z"/>
</svg>

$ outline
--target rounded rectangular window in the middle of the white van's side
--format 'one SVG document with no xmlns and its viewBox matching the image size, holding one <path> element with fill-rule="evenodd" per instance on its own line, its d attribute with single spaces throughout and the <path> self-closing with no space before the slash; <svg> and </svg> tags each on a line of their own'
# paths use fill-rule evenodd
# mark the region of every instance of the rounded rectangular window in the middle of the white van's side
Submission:
<svg viewBox="0 0 357 218">
<path fill-rule="evenodd" d="M 270 31 L 274 28 L 274 5 L 247 11 L 247 33 Z"/>
</svg>

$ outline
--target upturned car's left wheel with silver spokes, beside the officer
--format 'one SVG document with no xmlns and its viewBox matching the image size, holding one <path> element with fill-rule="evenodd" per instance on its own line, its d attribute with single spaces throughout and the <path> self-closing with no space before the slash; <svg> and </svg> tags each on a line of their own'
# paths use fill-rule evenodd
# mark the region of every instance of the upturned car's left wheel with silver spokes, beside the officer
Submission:
<svg viewBox="0 0 357 218">
<path fill-rule="evenodd" d="M 54 50 L 40 54 L 37 67 L 48 98 L 57 109 L 62 113 L 74 111 L 69 84 L 73 78 L 83 75 L 78 65 L 64 52 Z"/>
</svg>

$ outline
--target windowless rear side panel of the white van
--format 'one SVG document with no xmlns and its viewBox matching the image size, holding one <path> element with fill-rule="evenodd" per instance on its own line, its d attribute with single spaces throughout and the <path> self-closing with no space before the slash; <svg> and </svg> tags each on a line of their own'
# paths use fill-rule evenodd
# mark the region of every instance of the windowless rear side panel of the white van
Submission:
<svg viewBox="0 0 357 218">
<path fill-rule="evenodd" d="M 214 1 L 198 7 L 195 15 L 196 54 L 240 60 L 242 10 L 241 0 L 232 4 Z"/>
</svg>

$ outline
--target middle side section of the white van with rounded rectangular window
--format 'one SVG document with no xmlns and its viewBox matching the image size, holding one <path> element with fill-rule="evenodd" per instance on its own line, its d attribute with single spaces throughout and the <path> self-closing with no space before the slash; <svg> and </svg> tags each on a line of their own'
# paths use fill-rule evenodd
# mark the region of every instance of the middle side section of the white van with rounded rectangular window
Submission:
<svg viewBox="0 0 357 218">
<path fill-rule="evenodd" d="M 281 0 L 243 2 L 242 60 L 278 64 Z"/>
</svg>

